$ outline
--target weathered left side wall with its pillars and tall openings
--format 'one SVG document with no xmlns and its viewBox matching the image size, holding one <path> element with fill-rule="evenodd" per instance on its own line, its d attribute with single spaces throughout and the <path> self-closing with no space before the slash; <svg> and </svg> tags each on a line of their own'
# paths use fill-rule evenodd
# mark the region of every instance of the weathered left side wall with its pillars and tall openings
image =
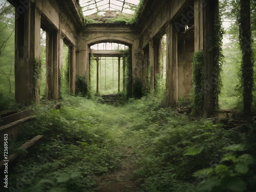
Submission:
<svg viewBox="0 0 256 192">
<path fill-rule="evenodd" d="M 16 9 L 15 20 L 15 99 L 19 103 L 39 102 L 34 82 L 35 58 L 40 59 L 40 28 L 47 31 L 47 97 L 59 97 L 59 68 L 65 38 L 73 46 L 70 65 L 75 66 L 78 32 L 83 28 L 82 16 L 74 0 L 8 0 Z M 61 53 L 60 53 L 61 52 Z M 75 67 L 70 69 L 75 70 Z M 73 74 L 73 72 L 71 73 Z M 74 75 L 72 80 L 74 81 Z M 71 90 L 74 92 L 74 82 Z"/>
</svg>

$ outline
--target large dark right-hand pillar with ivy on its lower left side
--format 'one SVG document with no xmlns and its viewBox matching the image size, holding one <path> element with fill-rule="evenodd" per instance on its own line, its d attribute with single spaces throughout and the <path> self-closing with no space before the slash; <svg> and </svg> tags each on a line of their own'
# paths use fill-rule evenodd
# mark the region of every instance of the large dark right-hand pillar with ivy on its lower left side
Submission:
<svg viewBox="0 0 256 192">
<path fill-rule="evenodd" d="M 214 68 L 219 63 L 214 61 L 214 52 L 212 47 L 215 46 L 214 39 L 214 22 L 219 14 L 219 1 L 196 0 L 194 4 L 195 10 L 195 51 L 204 50 L 204 116 L 209 117 L 214 114 L 215 110 L 215 82 Z"/>
</svg>

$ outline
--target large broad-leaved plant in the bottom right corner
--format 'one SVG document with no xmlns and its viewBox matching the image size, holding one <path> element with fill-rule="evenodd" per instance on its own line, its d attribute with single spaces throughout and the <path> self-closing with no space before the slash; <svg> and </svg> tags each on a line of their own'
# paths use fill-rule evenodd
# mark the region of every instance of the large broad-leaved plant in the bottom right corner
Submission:
<svg viewBox="0 0 256 192">
<path fill-rule="evenodd" d="M 215 168 L 204 168 L 194 173 L 195 177 L 203 180 L 196 191 L 208 192 L 242 192 L 253 191 L 256 188 L 255 159 L 249 154 L 239 154 L 245 151 L 244 145 L 235 144 L 223 148 L 230 151 L 225 154 L 221 163 Z"/>
</svg>

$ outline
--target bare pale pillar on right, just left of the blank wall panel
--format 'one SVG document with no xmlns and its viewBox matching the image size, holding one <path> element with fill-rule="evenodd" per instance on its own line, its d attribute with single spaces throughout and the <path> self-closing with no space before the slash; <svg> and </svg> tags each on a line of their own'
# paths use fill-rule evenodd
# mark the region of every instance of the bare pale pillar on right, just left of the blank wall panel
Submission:
<svg viewBox="0 0 256 192">
<path fill-rule="evenodd" d="M 172 23 L 166 25 L 166 106 L 178 102 L 177 30 Z"/>
</svg>

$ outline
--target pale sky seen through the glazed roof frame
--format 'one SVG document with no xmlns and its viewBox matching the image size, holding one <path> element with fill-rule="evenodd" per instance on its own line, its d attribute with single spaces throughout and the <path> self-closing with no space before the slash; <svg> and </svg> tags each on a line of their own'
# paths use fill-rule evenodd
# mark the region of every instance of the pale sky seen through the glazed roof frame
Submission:
<svg viewBox="0 0 256 192">
<path fill-rule="evenodd" d="M 103 15 L 105 11 L 118 11 L 133 15 L 140 0 L 80 0 L 85 16 L 97 13 Z"/>
</svg>

